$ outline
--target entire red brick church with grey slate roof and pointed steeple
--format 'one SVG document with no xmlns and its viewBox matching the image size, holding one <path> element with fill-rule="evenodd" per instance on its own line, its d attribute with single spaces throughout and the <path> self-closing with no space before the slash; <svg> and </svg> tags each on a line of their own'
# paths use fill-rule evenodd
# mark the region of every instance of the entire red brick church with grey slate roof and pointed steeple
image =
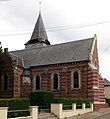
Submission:
<svg viewBox="0 0 110 119">
<path fill-rule="evenodd" d="M 52 91 L 57 98 L 87 98 L 105 106 L 99 74 L 97 37 L 51 45 L 39 14 L 25 49 L 4 49 L 0 58 L 0 98 L 27 97 L 30 90 Z"/>
</svg>

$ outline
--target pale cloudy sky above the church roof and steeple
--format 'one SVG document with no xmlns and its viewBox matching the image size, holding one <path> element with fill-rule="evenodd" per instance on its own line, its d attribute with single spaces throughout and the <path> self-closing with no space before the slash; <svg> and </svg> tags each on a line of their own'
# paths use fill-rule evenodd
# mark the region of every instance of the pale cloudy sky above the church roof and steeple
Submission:
<svg viewBox="0 0 110 119">
<path fill-rule="evenodd" d="M 91 38 L 96 34 L 100 74 L 110 81 L 110 0 L 0 0 L 3 48 L 24 49 L 39 10 L 51 44 Z"/>
</svg>

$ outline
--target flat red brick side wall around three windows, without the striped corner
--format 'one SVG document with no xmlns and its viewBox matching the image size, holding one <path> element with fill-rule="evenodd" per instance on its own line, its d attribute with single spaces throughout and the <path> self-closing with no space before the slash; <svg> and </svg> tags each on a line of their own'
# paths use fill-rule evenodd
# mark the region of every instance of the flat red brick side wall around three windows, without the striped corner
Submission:
<svg viewBox="0 0 110 119">
<path fill-rule="evenodd" d="M 74 71 L 80 72 L 80 89 L 71 88 L 71 75 Z M 33 89 L 35 76 L 40 75 L 41 89 L 51 91 L 53 73 L 58 73 L 60 77 L 60 90 L 52 90 L 55 97 L 87 98 L 87 62 L 53 65 L 39 68 L 33 67 L 31 69 Z"/>
</svg>

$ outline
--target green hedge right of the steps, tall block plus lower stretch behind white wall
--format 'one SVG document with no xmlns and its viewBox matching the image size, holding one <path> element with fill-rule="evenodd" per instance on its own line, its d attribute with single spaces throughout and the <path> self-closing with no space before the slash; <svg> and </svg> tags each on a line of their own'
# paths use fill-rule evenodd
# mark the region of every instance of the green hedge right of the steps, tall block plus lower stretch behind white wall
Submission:
<svg viewBox="0 0 110 119">
<path fill-rule="evenodd" d="M 90 101 L 88 99 L 73 99 L 73 98 L 53 98 L 53 93 L 50 91 L 33 91 L 30 92 L 30 105 L 39 106 L 39 108 L 50 107 L 51 103 L 63 103 L 65 109 L 70 109 L 72 103 L 77 104 L 77 108 L 82 107 L 82 103 L 86 104 L 86 107 L 90 107 Z"/>
</svg>

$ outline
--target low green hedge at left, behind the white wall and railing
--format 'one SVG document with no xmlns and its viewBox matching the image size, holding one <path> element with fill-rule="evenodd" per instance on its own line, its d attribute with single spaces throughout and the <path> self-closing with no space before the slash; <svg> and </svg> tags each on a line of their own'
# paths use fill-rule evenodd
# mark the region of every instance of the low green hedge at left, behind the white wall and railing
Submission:
<svg viewBox="0 0 110 119">
<path fill-rule="evenodd" d="M 9 107 L 10 110 L 27 110 L 29 109 L 29 99 L 28 98 L 9 98 L 0 99 L 0 107 Z M 17 117 L 28 115 L 29 112 L 11 112 L 8 117 Z"/>
</svg>

